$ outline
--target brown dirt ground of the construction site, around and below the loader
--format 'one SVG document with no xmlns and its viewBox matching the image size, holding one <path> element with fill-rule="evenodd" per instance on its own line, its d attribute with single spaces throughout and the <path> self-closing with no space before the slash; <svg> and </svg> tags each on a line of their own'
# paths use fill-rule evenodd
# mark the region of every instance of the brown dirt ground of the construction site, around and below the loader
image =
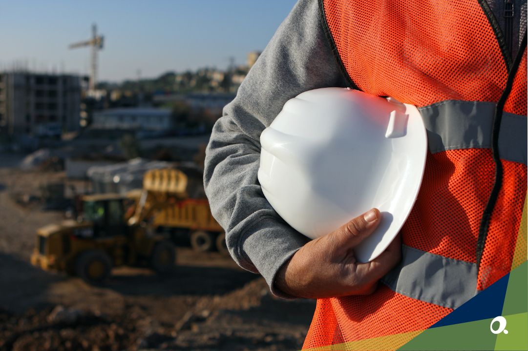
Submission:
<svg viewBox="0 0 528 351">
<path fill-rule="evenodd" d="M 21 171 L 0 154 L 0 350 L 293 350 L 315 303 L 280 300 L 218 252 L 178 248 L 168 276 L 121 267 L 107 285 L 30 265 L 35 230 L 61 212 L 21 206 L 62 172 Z"/>
</svg>

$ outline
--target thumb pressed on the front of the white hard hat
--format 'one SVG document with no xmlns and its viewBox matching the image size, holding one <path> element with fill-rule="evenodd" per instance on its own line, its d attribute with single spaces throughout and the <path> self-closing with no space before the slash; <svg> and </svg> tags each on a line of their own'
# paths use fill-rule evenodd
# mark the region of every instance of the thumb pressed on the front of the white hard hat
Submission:
<svg viewBox="0 0 528 351">
<path fill-rule="evenodd" d="M 329 237 L 337 247 L 352 248 L 363 239 L 372 234 L 380 224 L 381 213 L 373 208 L 348 222 L 332 232 Z"/>
</svg>

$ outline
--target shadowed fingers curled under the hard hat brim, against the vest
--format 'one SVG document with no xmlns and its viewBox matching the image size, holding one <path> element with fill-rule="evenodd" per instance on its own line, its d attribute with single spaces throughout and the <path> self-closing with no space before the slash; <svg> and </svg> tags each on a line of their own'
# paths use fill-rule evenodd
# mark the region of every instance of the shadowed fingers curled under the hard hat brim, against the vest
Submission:
<svg viewBox="0 0 528 351">
<path fill-rule="evenodd" d="M 376 281 L 387 274 L 401 259 L 400 235 L 394 238 L 390 245 L 370 262 L 358 264 L 356 274 L 362 282 Z"/>
</svg>

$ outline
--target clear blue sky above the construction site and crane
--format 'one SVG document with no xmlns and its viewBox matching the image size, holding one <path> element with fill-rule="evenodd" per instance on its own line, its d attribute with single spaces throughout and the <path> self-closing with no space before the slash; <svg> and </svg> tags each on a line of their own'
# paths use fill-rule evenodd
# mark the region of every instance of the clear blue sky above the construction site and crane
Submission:
<svg viewBox="0 0 528 351">
<path fill-rule="evenodd" d="M 0 70 L 88 74 L 91 24 L 105 36 L 99 80 L 154 77 L 163 72 L 225 68 L 262 50 L 296 0 L 0 0 Z"/>
</svg>

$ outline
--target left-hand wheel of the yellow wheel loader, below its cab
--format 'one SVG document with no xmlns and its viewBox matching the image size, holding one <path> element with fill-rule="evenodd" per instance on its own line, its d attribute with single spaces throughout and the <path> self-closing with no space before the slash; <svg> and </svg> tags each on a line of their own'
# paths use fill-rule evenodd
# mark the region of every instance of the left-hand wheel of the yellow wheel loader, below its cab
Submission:
<svg viewBox="0 0 528 351">
<path fill-rule="evenodd" d="M 112 270 L 112 260 L 105 251 L 91 249 L 77 257 L 75 271 L 78 277 L 88 284 L 103 284 Z"/>
</svg>

